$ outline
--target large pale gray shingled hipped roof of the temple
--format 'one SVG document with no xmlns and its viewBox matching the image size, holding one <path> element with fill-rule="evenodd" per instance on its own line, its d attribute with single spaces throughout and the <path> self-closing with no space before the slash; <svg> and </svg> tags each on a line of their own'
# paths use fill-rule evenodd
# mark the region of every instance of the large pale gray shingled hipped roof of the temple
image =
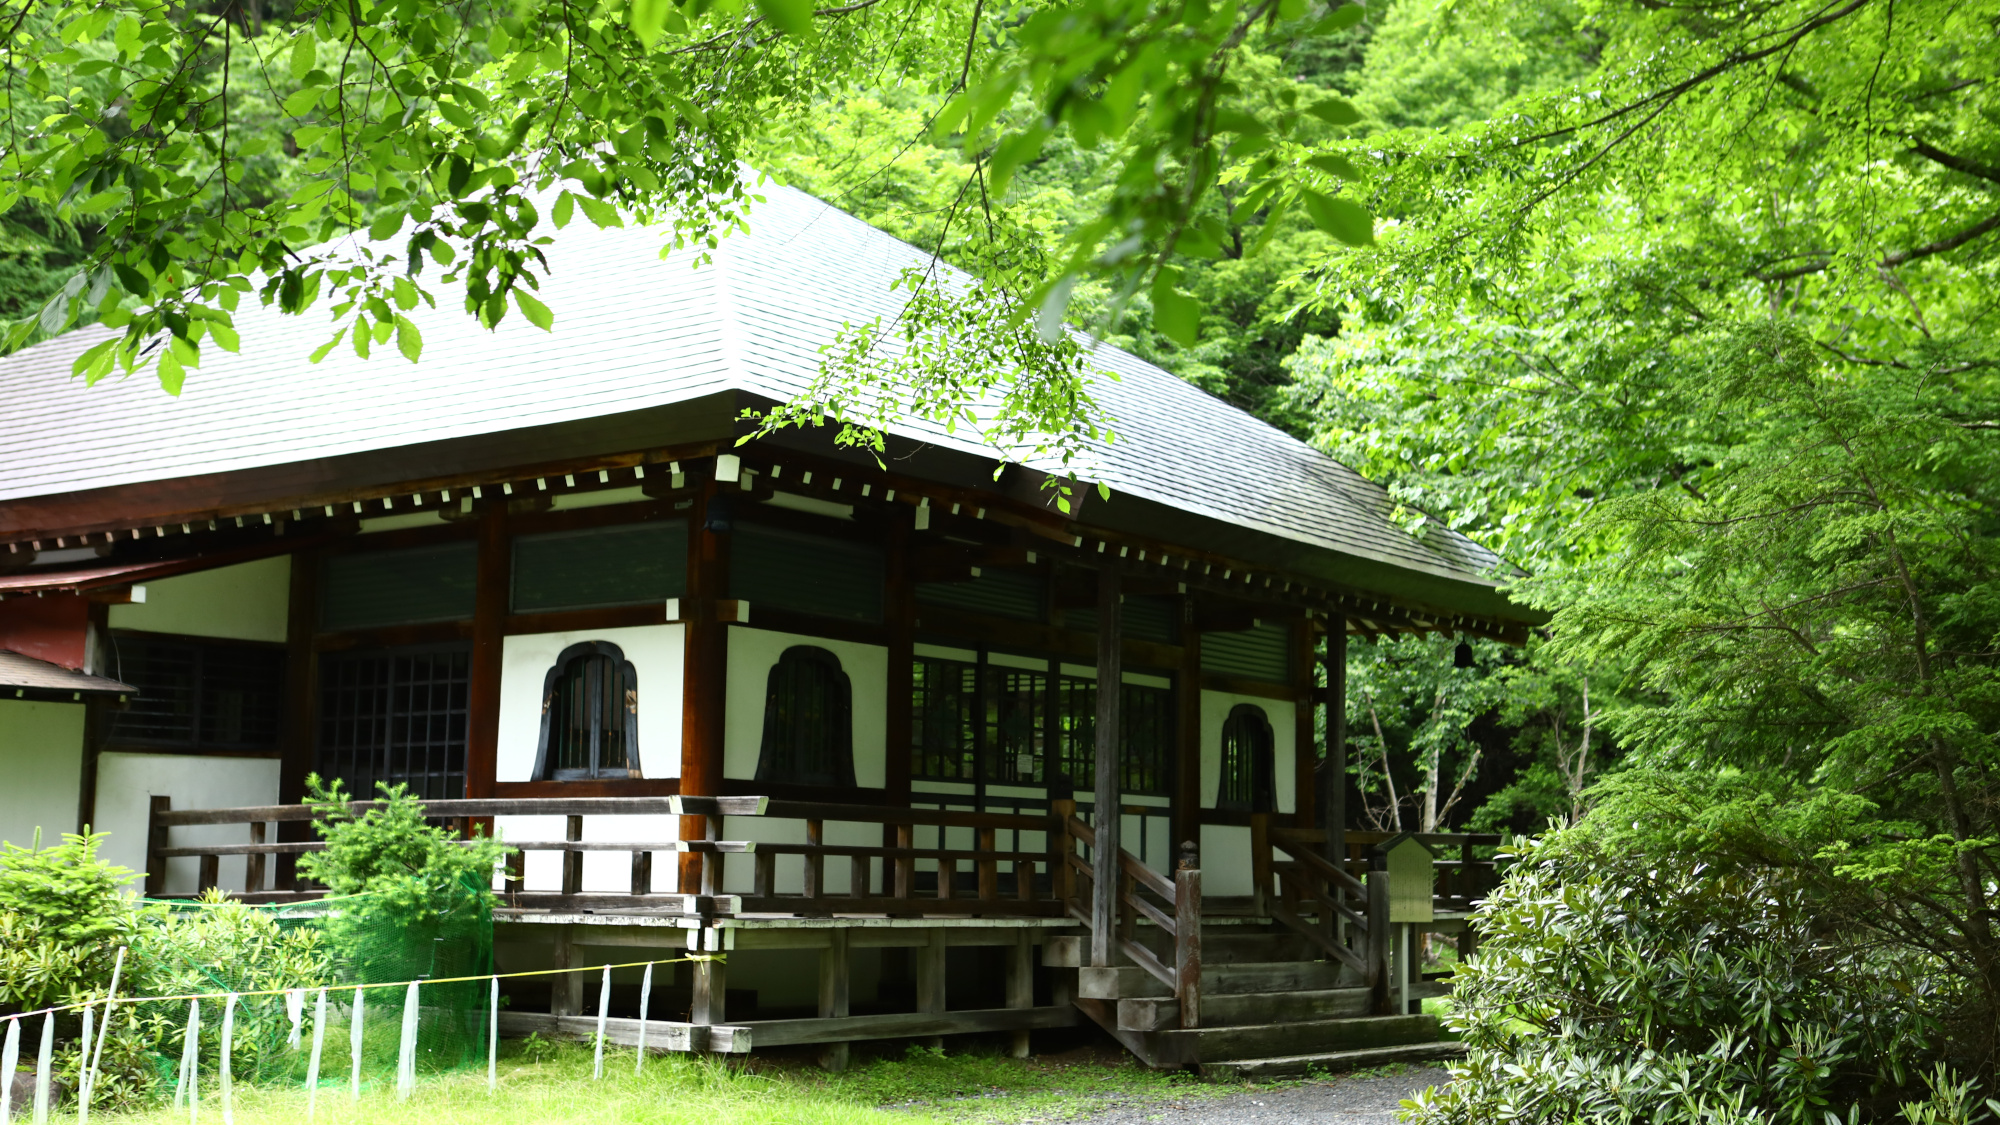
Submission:
<svg viewBox="0 0 2000 1125">
<path fill-rule="evenodd" d="M 394 346 L 360 360 L 326 338 L 324 312 L 280 316 L 246 302 L 242 352 L 208 348 L 180 398 L 150 378 L 84 388 L 70 362 L 104 338 L 84 328 L 0 358 L 0 502 L 354 454 L 400 444 L 664 406 L 736 388 L 770 398 L 802 390 L 842 322 L 892 318 L 890 282 L 926 254 L 804 192 L 766 184 L 748 234 L 714 262 L 662 260 L 660 230 L 596 230 L 578 220 L 550 246 L 542 298 L 554 334 L 508 316 L 478 328 L 454 292 L 426 310 L 424 358 Z M 1498 560 L 1434 530 L 1418 540 L 1390 518 L 1374 482 L 1324 452 L 1116 348 L 1098 364 L 1118 382 L 1092 392 L 1118 440 L 1094 450 L 1094 476 L 1178 510 L 1488 585 Z M 992 450 L 936 426 L 910 436 Z"/>
</svg>

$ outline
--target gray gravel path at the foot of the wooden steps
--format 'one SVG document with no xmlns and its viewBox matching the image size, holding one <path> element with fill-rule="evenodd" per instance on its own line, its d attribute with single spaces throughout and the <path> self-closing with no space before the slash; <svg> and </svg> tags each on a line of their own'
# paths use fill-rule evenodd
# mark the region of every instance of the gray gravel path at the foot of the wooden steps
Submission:
<svg viewBox="0 0 2000 1125">
<path fill-rule="evenodd" d="M 1228 1097 L 1120 1105 L 1080 1125 L 1394 1125 L 1402 1099 L 1446 1081 L 1440 1069 L 1250 1087 Z"/>
</svg>

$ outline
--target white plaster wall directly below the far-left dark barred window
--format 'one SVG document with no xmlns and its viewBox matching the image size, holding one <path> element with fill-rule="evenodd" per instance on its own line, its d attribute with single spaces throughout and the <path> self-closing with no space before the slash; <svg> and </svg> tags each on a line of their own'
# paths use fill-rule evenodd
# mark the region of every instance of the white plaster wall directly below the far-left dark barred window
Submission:
<svg viewBox="0 0 2000 1125">
<path fill-rule="evenodd" d="M 98 831 L 112 835 L 104 859 L 146 871 L 146 817 L 152 797 L 172 797 L 174 809 L 236 809 L 278 803 L 278 759 L 224 759 L 206 755 L 98 757 Z M 250 843 L 250 825 L 186 825 L 168 829 L 168 847 Z M 198 859 L 166 861 L 168 895 L 192 895 Z M 264 865 L 264 879 L 276 877 L 276 863 Z M 226 855 L 216 871 L 222 887 L 244 887 L 244 857 Z M 136 885 L 134 885 L 136 887 Z M 160 893 L 148 887 L 148 893 Z"/>
</svg>

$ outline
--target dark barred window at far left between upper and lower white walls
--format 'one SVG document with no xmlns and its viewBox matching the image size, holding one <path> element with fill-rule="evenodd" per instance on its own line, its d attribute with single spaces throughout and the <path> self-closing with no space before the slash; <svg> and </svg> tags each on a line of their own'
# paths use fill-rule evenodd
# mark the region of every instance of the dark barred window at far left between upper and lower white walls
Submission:
<svg viewBox="0 0 2000 1125">
<path fill-rule="evenodd" d="M 160 749 L 272 749 L 284 731 L 284 649 L 112 633 L 114 675 L 138 689 L 112 741 Z"/>
</svg>

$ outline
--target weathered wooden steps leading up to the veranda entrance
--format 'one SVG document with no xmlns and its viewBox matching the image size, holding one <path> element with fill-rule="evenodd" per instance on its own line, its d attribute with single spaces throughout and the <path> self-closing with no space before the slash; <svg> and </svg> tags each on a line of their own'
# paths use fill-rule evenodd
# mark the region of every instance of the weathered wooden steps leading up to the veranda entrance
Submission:
<svg viewBox="0 0 2000 1125">
<path fill-rule="evenodd" d="M 1374 1015 L 1354 969 L 1314 961 L 1314 945 L 1270 925 L 1210 927 L 1202 939 L 1200 1027 L 1182 1027 L 1172 991 L 1138 965 L 1090 967 L 1088 939 L 1054 939 L 1044 965 L 1076 971 L 1076 1007 L 1150 1067 L 1278 1077 L 1456 1055 L 1430 1015 Z"/>
</svg>

